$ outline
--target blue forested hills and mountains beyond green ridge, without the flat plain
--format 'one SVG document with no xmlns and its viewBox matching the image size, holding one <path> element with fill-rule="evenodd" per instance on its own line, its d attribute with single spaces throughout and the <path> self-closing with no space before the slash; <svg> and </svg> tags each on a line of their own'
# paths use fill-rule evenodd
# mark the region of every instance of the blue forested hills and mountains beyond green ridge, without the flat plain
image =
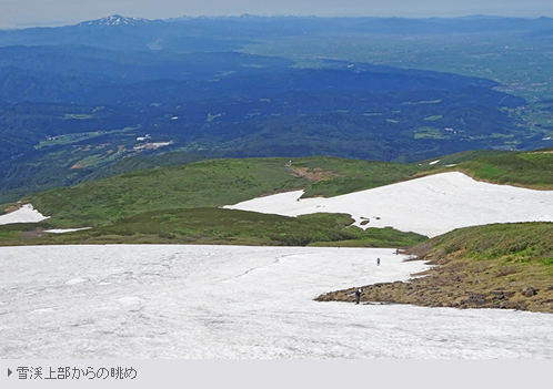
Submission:
<svg viewBox="0 0 553 389">
<path fill-rule="evenodd" d="M 340 58 L 309 68 L 237 50 L 260 37 L 551 27 L 546 18 L 112 16 L 0 31 L 0 198 L 120 173 L 169 151 L 184 154 L 160 164 L 321 154 L 410 162 L 537 149 L 544 136 L 513 114 L 526 101 L 493 80 Z"/>
</svg>

